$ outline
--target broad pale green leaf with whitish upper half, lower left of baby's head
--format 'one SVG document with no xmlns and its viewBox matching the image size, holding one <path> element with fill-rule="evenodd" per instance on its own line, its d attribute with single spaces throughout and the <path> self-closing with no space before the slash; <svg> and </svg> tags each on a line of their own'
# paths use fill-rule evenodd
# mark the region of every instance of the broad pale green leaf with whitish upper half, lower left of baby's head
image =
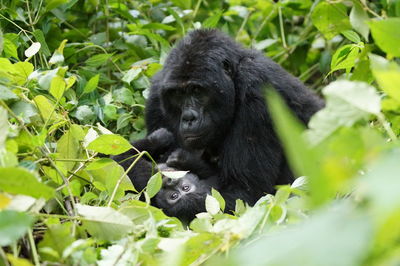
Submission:
<svg viewBox="0 0 400 266">
<path fill-rule="evenodd" d="M 85 217 L 83 226 L 95 238 L 118 240 L 134 229 L 132 221 L 109 207 L 93 207 L 77 204 L 78 214 Z"/>
</svg>

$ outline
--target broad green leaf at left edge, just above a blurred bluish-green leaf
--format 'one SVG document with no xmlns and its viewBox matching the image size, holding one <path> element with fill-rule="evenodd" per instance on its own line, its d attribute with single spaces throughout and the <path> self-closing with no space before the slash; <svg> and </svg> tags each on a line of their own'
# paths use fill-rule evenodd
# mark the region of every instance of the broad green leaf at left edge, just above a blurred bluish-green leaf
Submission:
<svg viewBox="0 0 400 266">
<path fill-rule="evenodd" d="M 17 167 L 0 168 L 0 189 L 12 193 L 32 196 L 34 198 L 50 199 L 54 189 L 40 183 L 27 170 Z"/>
</svg>

